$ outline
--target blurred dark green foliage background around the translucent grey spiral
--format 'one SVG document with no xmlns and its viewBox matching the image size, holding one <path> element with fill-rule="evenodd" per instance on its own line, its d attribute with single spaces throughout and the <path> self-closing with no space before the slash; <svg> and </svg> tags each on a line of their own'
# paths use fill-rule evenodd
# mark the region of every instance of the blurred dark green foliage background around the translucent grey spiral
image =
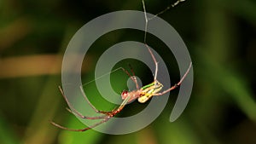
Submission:
<svg viewBox="0 0 256 144">
<path fill-rule="evenodd" d="M 174 2 L 145 3 L 148 13 L 157 14 Z M 132 134 L 70 132 L 49 124 L 54 119 L 70 128 L 84 128 L 65 110 L 67 104 L 57 88 L 61 85 L 62 55 L 73 34 L 86 22 L 127 9 L 143 10 L 143 6 L 140 0 L 0 1 L 0 143 L 255 144 L 254 0 L 188 0 L 160 15 L 183 37 L 194 66 L 189 105 L 174 123 L 169 122 L 169 117 L 178 90 L 171 93 L 166 109 L 154 123 Z M 83 83 L 93 79 L 96 60 L 103 51 L 124 40 L 143 42 L 143 32 L 124 30 L 99 38 L 84 60 Z M 168 61 L 171 78 L 178 81 L 177 62 L 170 57 L 171 52 L 156 37 L 148 35 L 148 44 Z M 125 67 L 127 63 L 143 84 L 153 81 L 147 67 L 136 60 L 121 61 L 116 67 Z M 127 89 L 125 80 L 119 80 L 124 75 L 119 75 L 111 75 L 117 92 Z M 94 84 L 84 90 L 90 96 L 99 95 Z M 92 102 L 102 110 L 114 107 L 108 101 Z M 133 102 L 119 117 L 137 113 L 146 106 Z"/>
</svg>

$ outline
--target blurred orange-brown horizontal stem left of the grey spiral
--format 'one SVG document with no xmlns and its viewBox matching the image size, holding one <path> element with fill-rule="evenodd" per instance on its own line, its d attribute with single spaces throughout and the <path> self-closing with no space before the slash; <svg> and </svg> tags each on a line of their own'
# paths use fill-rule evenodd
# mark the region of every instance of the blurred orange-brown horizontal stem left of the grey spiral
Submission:
<svg viewBox="0 0 256 144">
<path fill-rule="evenodd" d="M 61 73 L 60 55 L 26 55 L 0 60 L 0 78 L 19 78 Z"/>
</svg>

